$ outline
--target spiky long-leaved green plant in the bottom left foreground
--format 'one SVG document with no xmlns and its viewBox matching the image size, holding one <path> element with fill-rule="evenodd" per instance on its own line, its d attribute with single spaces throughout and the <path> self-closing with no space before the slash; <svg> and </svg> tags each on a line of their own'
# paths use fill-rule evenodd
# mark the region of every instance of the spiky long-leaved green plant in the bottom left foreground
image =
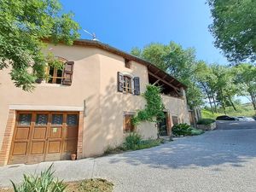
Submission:
<svg viewBox="0 0 256 192">
<path fill-rule="evenodd" d="M 23 175 L 23 182 L 17 186 L 13 181 L 15 192 L 63 192 L 67 188 L 67 184 L 63 181 L 55 179 L 52 166 L 41 172 L 39 176 Z"/>
</svg>

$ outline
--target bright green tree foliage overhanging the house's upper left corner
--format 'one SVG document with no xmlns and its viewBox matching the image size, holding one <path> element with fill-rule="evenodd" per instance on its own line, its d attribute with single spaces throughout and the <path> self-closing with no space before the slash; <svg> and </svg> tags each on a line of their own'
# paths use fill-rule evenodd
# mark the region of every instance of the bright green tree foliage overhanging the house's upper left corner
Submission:
<svg viewBox="0 0 256 192">
<path fill-rule="evenodd" d="M 60 12 L 58 0 L 0 1 L 0 69 L 12 67 L 17 87 L 32 90 L 35 79 L 44 78 L 45 38 L 55 44 L 73 44 L 79 38 L 73 14 Z"/>
</svg>

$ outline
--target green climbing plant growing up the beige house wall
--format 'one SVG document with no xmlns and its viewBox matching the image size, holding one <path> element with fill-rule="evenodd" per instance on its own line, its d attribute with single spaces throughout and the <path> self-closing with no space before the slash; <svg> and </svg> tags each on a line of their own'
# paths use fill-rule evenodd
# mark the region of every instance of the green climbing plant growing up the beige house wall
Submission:
<svg viewBox="0 0 256 192">
<path fill-rule="evenodd" d="M 156 122 L 157 119 L 164 119 L 165 113 L 163 112 L 165 106 L 160 96 L 161 88 L 154 84 L 148 84 L 147 90 L 143 93 L 146 99 L 146 106 L 142 110 L 138 110 L 137 114 L 132 118 L 133 125 L 138 125 L 142 121 Z"/>
</svg>

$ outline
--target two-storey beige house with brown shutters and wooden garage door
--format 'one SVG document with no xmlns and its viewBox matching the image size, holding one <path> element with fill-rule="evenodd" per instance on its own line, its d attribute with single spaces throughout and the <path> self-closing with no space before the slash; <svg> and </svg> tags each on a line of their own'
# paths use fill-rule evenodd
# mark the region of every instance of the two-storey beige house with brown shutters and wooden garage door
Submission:
<svg viewBox="0 0 256 192">
<path fill-rule="evenodd" d="M 189 123 L 186 86 L 148 61 L 90 40 L 49 48 L 65 67 L 49 67 L 49 79 L 32 92 L 16 88 L 9 69 L 0 71 L 0 165 L 100 155 L 131 131 L 156 138 L 154 123 L 131 125 L 146 103 L 147 84 L 163 88 L 161 136 L 170 136 L 173 124 Z"/>
</svg>

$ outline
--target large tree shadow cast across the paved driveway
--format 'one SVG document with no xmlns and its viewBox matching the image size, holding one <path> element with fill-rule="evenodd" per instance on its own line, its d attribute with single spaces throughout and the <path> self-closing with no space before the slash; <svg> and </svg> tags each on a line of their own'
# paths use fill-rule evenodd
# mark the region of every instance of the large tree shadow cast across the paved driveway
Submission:
<svg viewBox="0 0 256 192">
<path fill-rule="evenodd" d="M 256 157 L 255 138 L 256 129 L 208 131 L 198 137 L 181 138 L 156 148 L 119 154 L 118 157 L 113 155 L 109 162 L 125 161 L 133 166 L 144 164 L 163 169 L 222 164 L 240 167 Z"/>
</svg>

